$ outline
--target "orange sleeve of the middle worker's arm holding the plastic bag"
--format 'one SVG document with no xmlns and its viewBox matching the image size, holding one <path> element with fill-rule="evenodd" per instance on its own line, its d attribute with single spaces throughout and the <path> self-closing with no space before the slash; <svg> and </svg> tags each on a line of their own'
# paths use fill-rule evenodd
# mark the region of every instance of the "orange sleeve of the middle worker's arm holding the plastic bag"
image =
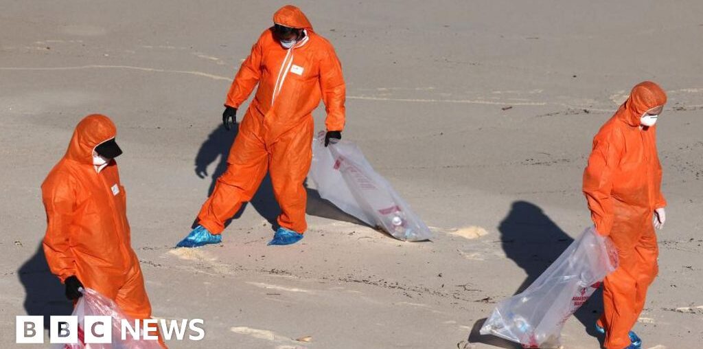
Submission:
<svg viewBox="0 0 703 349">
<path fill-rule="evenodd" d="M 327 119 L 325 127 L 328 131 L 342 131 L 344 129 L 344 100 L 347 87 L 344 85 L 342 63 L 332 46 L 320 62 L 320 87 L 322 100 L 325 102 Z"/>
</svg>

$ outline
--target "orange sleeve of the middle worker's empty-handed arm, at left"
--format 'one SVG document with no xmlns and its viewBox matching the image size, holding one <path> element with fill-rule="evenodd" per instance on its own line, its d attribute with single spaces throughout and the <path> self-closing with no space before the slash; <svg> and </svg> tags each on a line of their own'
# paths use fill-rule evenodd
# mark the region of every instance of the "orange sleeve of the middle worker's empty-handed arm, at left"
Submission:
<svg viewBox="0 0 703 349">
<path fill-rule="evenodd" d="M 254 87 L 259 83 L 263 55 L 263 37 L 264 34 L 262 34 L 262 37 L 259 37 L 259 40 L 252 46 L 252 52 L 240 66 L 231 87 L 229 87 L 227 99 L 224 102 L 225 106 L 239 108 L 239 106 L 249 98 L 249 95 L 254 91 Z"/>
</svg>

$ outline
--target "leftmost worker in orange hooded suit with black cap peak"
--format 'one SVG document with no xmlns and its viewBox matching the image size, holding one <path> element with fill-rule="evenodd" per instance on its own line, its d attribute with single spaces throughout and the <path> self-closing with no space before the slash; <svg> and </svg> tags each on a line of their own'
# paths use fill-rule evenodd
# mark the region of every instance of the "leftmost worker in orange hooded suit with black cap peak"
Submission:
<svg viewBox="0 0 703 349">
<path fill-rule="evenodd" d="M 41 184 L 44 254 L 65 284 L 67 298 L 76 301 L 82 296 L 79 288 L 93 288 L 115 300 L 126 315 L 149 319 L 151 305 L 130 243 L 127 196 L 113 160 L 122 154 L 116 134 L 105 115 L 86 116 Z M 161 338 L 160 343 L 165 347 Z"/>
</svg>

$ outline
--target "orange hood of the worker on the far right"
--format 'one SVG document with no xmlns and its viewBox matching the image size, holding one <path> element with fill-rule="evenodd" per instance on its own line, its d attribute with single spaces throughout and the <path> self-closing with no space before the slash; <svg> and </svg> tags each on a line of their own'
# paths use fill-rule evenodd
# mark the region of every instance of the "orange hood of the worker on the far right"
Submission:
<svg viewBox="0 0 703 349">
<path fill-rule="evenodd" d="M 618 110 L 619 118 L 631 126 L 640 125 L 640 117 L 654 107 L 664 106 L 666 92 L 651 81 L 640 82 L 632 88 L 627 101 Z"/>
</svg>

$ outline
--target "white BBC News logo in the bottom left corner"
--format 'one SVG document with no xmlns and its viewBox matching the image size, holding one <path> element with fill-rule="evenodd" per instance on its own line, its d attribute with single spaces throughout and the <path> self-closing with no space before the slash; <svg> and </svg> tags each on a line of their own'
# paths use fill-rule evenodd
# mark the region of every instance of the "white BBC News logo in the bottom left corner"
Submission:
<svg viewBox="0 0 703 349">
<path fill-rule="evenodd" d="M 112 317 L 86 316 L 84 324 L 79 329 L 78 317 L 51 316 L 49 319 L 49 342 L 58 344 L 75 344 L 81 340 L 85 344 L 112 343 Z M 202 319 L 144 319 L 129 322 L 122 319 L 120 322 L 120 340 L 125 341 L 157 341 L 157 331 L 161 330 L 162 338 L 170 341 L 174 336 L 177 341 L 183 341 L 188 332 L 188 340 L 200 341 L 205 338 Z M 18 316 L 16 322 L 16 339 L 18 344 L 44 343 L 44 317 L 43 316 Z"/>
</svg>

